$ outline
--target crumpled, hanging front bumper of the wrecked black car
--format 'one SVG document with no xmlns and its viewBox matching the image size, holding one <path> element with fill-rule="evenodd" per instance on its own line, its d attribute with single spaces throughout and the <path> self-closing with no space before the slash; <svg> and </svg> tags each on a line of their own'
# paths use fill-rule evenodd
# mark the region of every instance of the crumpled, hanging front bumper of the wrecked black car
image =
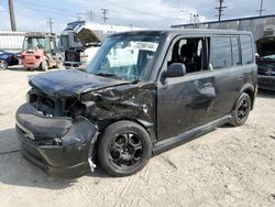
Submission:
<svg viewBox="0 0 275 207">
<path fill-rule="evenodd" d="M 88 119 L 45 117 L 25 103 L 16 111 L 15 128 L 22 154 L 46 173 L 74 178 L 94 171 L 98 130 Z"/>
</svg>

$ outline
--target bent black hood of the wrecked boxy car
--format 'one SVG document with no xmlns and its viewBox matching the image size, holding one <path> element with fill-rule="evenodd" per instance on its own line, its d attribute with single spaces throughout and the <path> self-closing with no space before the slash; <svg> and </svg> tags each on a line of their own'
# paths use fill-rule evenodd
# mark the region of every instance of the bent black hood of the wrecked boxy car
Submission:
<svg viewBox="0 0 275 207">
<path fill-rule="evenodd" d="M 100 77 L 76 69 L 67 69 L 31 76 L 29 84 L 50 96 L 75 97 L 82 92 L 128 85 L 131 81 Z"/>
</svg>

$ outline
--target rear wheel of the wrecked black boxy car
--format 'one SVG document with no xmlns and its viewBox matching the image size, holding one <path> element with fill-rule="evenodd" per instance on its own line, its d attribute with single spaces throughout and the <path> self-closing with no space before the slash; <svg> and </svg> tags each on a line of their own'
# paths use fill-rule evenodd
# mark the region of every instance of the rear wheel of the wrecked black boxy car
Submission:
<svg viewBox="0 0 275 207">
<path fill-rule="evenodd" d="M 232 111 L 231 126 L 242 126 L 249 118 L 251 111 L 251 98 L 246 92 L 241 94 Z"/>
</svg>

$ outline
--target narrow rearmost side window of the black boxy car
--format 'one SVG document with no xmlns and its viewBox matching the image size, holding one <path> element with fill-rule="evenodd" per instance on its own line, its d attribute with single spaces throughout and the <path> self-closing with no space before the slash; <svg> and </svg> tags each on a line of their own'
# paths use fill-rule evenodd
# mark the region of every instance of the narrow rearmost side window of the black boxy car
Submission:
<svg viewBox="0 0 275 207">
<path fill-rule="evenodd" d="M 241 35 L 241 48 L 242 48 L 242 64 L 253 63 L 253 46 L 250 35 Z"/>
</svg>

